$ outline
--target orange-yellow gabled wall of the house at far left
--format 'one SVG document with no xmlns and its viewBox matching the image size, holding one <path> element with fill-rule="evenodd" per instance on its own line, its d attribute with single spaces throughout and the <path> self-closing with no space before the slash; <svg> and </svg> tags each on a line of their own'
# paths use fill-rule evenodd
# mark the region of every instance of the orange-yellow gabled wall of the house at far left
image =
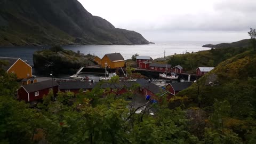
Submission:
<svg viewBox="0 0 256 144">
<path fill-rule="evenodd" d="M 17 78 L 30 78 L 32 76 L 32 68 L 21 59 L 18 59 L 14 65 L 7 70 L 7 73 L 14 73 L 17 75 Z"/>
</svg>

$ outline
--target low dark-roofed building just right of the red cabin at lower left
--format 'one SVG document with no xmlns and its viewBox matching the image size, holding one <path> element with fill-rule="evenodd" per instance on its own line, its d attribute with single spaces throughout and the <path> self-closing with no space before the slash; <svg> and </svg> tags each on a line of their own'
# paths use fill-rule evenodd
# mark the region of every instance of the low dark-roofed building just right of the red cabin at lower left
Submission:
<svg viewBox="0 0 256 144">
<path fill-rule="evenodd" d="M 96 85 L 97 82 L 67 81 L 60 82 L 59 90 L 61 92 L 73 92 L 77 94 L 79 90 L 83 92 L 91 91 Z"/>
</svg>

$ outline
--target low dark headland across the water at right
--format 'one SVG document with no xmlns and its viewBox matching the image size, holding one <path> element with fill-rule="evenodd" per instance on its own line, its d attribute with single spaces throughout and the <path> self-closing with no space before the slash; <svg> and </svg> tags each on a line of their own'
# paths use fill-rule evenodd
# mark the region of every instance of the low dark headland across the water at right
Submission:
<svg viewBox="0 0 256 144">
<path fill-rule="evenodd" d="M 248 47 L 250 44 L 250 39 L 243 39 L 238 42 L 233 43 L 220 43 L 220 44 L 206 44 L 203 47 L 214 47 L 214 48 L 224 48 L 224 47 Z"/>
</svg>

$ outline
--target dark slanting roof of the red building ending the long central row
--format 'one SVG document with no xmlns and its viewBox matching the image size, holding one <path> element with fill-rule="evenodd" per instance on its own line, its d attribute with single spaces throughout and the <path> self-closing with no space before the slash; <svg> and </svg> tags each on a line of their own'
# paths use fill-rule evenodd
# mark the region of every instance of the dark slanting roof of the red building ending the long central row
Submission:
<svg viewBox="0 0 256 144">
<path fill-rule="evenodd" d="M 138 84 L 140 84 L 141 87 L 148 89 L 149 91 L 153 92 L 154 94 L 166 92 L 161 87 L 159 87 L 153 83 L 149 83 L 148 81 L 146 81 L 146 79 L 140 78 L 140 79 L 137 79 L 136 82 Z"/>
</svg>

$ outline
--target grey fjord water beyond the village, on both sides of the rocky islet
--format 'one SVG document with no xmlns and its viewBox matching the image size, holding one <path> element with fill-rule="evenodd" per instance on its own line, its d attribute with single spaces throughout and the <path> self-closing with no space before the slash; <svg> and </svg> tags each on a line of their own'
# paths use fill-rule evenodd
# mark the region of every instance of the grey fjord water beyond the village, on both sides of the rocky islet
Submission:
<svg viewBox="0 0 256 144">
<path fill-rule="evenodd" d="M 174 53 L 181 54 L 187 52 L 197 52 L 209 50 L 208 47 L 202 47 L 204 44 L 218 44 L 222 42 L 156 42 L 156 44 L 149 45 L 77 45 L 77 46 L 63 46 L 65 49 L 74 52 L 80 51 L 84 54 L 94 54 L 102 58 L 106 53 L 119 52 L 124 59 L 131 59 L 132 55 L 138 53 L 139 55 L 148 55 L 153 59 L 172 55 Z M 27 60 L 30 65 L 33 65 L 33 53 L 42 50 L 42 46 L 13 46 L 0 47 L 0 57 L 13 57 Z"/>
</svg>

